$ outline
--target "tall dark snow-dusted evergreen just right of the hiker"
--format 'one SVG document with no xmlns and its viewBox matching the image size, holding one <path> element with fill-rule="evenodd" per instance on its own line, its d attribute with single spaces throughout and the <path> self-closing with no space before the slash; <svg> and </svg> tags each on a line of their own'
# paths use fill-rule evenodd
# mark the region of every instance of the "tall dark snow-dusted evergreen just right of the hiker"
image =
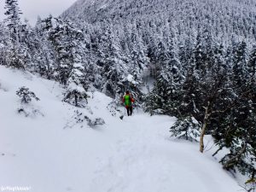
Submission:
<svg viewBox="0 0 256 192">
<path fill-rule="evenodd" d="M 168 49 L 163 43 L 159 44 L 159 49 L 161 51 L 158 55 L 161 61 L 160 71 L 154 84 L 154 90 L 149 93 L 146 107 L 150 111 L 157 109 L 159 113 L 177 115 L 177 102 L 179 100 L 179 90 L 183 84 L 183 73 L 173 37 Z M 157 98 L 154 108 L 150 106 L 152 98 Z"/>
</svg>

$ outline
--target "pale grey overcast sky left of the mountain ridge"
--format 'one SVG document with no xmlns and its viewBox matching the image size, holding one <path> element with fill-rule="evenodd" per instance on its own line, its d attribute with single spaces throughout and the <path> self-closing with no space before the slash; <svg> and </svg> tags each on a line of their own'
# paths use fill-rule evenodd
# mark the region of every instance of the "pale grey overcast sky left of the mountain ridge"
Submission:
<svg viewBox="0 0 256 192">
<path fill-rule="evenodd" d="M 53 16 L 69 8 L 76 0 L 19 0 L 20 10 L 23 13 L 22 20 L 26 18 L 34 25 L 38 20 L 38 15 L 43 19 L 49 14 Z M 4 12 L 5 0 L 0 0 L 0 20 L 5 18 Z"/>
</svg>

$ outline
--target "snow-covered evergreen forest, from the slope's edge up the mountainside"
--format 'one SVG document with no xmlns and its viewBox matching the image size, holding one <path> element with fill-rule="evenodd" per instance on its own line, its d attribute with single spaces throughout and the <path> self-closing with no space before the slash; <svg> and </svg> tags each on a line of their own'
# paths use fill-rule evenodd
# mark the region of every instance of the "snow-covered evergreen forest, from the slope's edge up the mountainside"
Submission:
<svg viewBox="0 0 256 192">
<path fill-rule="evenodd" d="M 6 0 L 0 65 L 66 88 L 86 105 L 91 87 L 120 105 L 131 90 L 145 112 L 177 117 L 170 135 L 212 135 L 224 169 L 256 173 L 256 4 L 246 1 L 79 0 L 60 17 L 20 19 Z M 132 76 L 132 81 L 127 77 Z M 146 88 L 146 89 L 143 89 Z"/>
</svg>

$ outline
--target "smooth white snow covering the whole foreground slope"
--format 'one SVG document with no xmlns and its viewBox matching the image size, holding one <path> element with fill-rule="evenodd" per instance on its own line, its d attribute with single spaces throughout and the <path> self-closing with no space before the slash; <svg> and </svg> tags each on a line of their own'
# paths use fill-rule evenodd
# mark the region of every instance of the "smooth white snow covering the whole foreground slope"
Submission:
<svg viewBox="0 0 256 192">
<path fill-rule="evenodd" d="M 15 91 L 25 85 L 40 98 L 17 113 Z M 109 113 L 111 99 L 95 92 L 79 108 L 106 124 L 75 124 L 61 102 L 62 88 L 0 67 L 0 186 L 29 186 L 33 192 L 236 192 L 236 180 L 198 145 L 169 137 L 175 119 L 138 113 L 121 120 Z M 82 127 L 83 126 L 83 127 Z"/>
</svg>

